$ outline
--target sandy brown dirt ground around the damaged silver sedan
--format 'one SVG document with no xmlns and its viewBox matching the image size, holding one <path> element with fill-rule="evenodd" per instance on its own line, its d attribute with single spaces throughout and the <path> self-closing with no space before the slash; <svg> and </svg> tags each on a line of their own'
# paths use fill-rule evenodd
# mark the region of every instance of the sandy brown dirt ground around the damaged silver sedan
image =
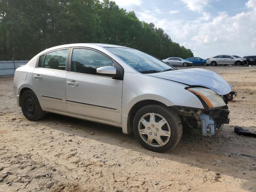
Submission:
<svg viewBox="0 0 256 192">
<path fill-rule="evenodd" d="M 256 67 L 207 67 L 237 98 L 230 124 L 212 137 L 184 131 L 169 152 L 140 146 L 120 128 L 57 114 L 28 121 L 0 78 L 0 192 L 256 192 Z M 245 98 L 242 98 L 245 97 Z"/>
</svg>

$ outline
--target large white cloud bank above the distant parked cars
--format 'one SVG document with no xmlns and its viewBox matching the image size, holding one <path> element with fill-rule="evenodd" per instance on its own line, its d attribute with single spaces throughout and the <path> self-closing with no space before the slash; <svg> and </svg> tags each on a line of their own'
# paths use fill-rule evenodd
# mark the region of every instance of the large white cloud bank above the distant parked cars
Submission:
<svg viewBox="0 0 256 192">
<path fill-rule="evenodd" d="M 186 3 L 190 10 L 199 12 L 201 16 L 191 20 L 183 18 L 172 20 L 168 15 L 162 18 L 163 14 L 157 13 L 162 10 L 156 8 L 151 10 L 146 6 L 145 9 L 148 10 L 144 10 L 143 2 L 141 5 L 133 4 L 132 10 L 140 20 L 153 22 L 156 27 L 163 28 L 174 42 L 191 49 L 195 56 L 207 58 L 216 54 L 239 56 L 255 54 L 256 0 L 248 0 L 245 3 L 246 8 L 241 9 L 241 12 L 234 16 L 230 16 L 227 12 L 219 12 L 217 16 L 212 16 L 204 10 L 205 6 L 209 6 L 210 0 L 182 0 L 182 2 Z M 171 10 L 170 14 L 176 13 L 174 11 Z"/>
</svg>

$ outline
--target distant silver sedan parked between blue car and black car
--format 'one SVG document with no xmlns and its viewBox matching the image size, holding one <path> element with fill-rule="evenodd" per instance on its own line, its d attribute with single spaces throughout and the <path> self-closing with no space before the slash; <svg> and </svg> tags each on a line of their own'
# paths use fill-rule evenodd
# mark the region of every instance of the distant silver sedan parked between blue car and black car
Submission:
<svg viewBox="0 0 256 192">
<path fill-rule="evenodd" d="M 232 55 L 216 55 L 211 58 L 207 58 L 207 65 L 216 66 L 216 65 L 246 65 L 248 62 L 244 58 L 232 56 Z"/>
</svg>

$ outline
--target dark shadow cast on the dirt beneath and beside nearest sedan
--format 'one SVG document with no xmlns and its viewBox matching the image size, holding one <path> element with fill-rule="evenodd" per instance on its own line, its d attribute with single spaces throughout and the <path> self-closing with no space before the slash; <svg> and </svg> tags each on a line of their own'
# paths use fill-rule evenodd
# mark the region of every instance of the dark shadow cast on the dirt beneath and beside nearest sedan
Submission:
<svg viewBox="0 0 256 192">
<path fill-rule="evenodd" d="M 49 125 L 50 121 L 52 124 Z M 57 126 L 56 123 L 58 123 Z M 218 135 L 212 137 L 204 137 L 192 134 L 190 130 L 183 130 L 182 138 L 174 149 L 157 153 L 143 148 L 133 134 L 123 134 L 121 128 L 113 126 L 50 113 L 46 118 L 38 121 L 38 124 L 67 134 L 72 133 L 90 140 L 133 150 L 146 156 L 176 161 L 241 179 L 242 189 L 256 190 L 256 150 L 254 148 L 256 138 L 236 135 L 232 125 L 225 125 Z M 92 132 L 93 135 L 90 134 Z M 252 145 L 251 148 L 250 145 Z"/>
</svg>

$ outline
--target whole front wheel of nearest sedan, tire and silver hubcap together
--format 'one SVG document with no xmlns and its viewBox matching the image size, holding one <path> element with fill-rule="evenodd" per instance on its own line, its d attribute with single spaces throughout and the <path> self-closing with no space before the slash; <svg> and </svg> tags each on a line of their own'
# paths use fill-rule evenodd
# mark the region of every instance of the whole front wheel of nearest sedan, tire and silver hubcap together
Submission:
<svg viewBox="0 0 256 192">
<path fill-rule="evenodd" d="M 182 123 L 179 116 L 168 107 L 148 105 L 136 113 L 133 131 L 146 149 L 164 152 L 174 148 L 180 141 Z"/>
</svg>

